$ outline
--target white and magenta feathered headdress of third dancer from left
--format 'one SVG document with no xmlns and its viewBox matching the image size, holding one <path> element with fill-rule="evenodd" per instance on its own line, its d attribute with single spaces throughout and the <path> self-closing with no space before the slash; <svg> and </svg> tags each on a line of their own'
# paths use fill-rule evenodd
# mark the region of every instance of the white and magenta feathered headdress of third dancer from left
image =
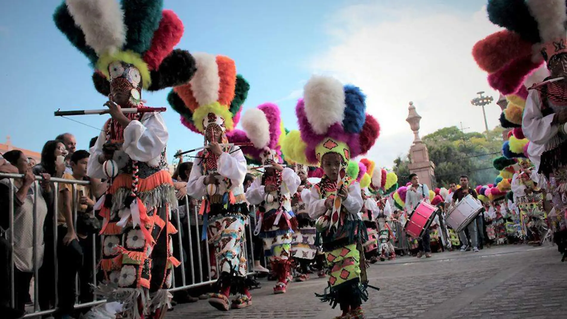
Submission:
<svg viewBox="0 0 567 319">
<path fill-rule="evenodd" d="M 251 108 L 242 116 L 242 130 L 234 129 L 227 134 L 229 141 L 252 142 L 253 146 L 242 146 L 248 159 L 260 165 L 281 162 L 280 140 L 285 135 L 280 108 L 273 103 L 264 103 Z"/>
</svg>

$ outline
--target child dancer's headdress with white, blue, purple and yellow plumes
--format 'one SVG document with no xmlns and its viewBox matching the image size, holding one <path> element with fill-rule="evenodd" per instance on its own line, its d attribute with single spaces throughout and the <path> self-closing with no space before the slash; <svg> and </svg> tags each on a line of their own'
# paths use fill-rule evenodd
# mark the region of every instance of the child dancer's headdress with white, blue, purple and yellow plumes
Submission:
<svg viewBox="0 0 567 319">
<path fill-rule="evenodd" d="M 378 138 L 380 125 L 366 114 L 365 99 L 356 86 L 314 75 L 295 107 L 299 135 L 290 132 L 293 136 L 284 143 L 292 144 L 284 149 L 293 149 L 294 161 L 307 165 L 319 165 L 326 153 L 340 154 L 345 163 L 367 153 Z"/>
</svg>

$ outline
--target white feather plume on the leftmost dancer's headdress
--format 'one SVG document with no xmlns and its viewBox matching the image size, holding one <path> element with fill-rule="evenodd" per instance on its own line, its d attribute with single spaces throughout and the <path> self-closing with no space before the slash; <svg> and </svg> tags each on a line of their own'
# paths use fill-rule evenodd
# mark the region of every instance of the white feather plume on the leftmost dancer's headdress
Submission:
<svg viewBox="0 0 567 319">
<path fill-rule="evenodd" d="M 124 12 L 116 0 L 66 0 L 84 40 L 98 56 L 122 49 L 126 43 Z"/>
</svg>

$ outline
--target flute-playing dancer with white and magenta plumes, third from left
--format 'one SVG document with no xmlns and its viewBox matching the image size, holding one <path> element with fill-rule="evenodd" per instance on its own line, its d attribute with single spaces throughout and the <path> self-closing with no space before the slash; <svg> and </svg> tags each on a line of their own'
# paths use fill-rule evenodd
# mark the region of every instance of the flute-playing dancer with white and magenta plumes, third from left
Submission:
<svg viewBox="0 0 567 319">
<path fill-rule="evenodd" d="M 263 238 L 264 255 L 277 277 L 274 293 L 285 293 L 291 276 L 291 237 L 298 226 L 291 196 L 297 192 L 301 179 L 293 169 L 280 164 L 281 119 L 276 104 L 265 103 L 248 110 L 242 125 L 253 143 L 245 152 L 264 166 L 264 174 L 248 188 L 246 199 L 259 206 L 255 234 Z"/>
</svg>

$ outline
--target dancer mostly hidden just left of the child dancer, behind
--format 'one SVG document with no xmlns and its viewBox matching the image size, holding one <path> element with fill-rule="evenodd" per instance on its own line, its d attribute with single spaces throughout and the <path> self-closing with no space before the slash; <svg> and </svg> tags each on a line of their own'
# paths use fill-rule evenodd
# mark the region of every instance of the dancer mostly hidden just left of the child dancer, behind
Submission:
<svg viewBox="0 0 567 319">
<path fill-rule="evenodd" d="M 310 266 L 317 254 L 315 221 L 309 217 L 306 204 L 302 199 L 302 194 L 304 192 L 307 194 L 312 185 L 307 181 L 307 166 L 295 163 L 293 167 L 301 180 L 301 184 L 291 198 L 291 208 L 297 218 L 298 225 L 298 232 L 295 232 L 292 236 L 291 256 L 298 263 L 298 276 L 295 280 L 304 282 L 309 279 Z"/>
</svg>

